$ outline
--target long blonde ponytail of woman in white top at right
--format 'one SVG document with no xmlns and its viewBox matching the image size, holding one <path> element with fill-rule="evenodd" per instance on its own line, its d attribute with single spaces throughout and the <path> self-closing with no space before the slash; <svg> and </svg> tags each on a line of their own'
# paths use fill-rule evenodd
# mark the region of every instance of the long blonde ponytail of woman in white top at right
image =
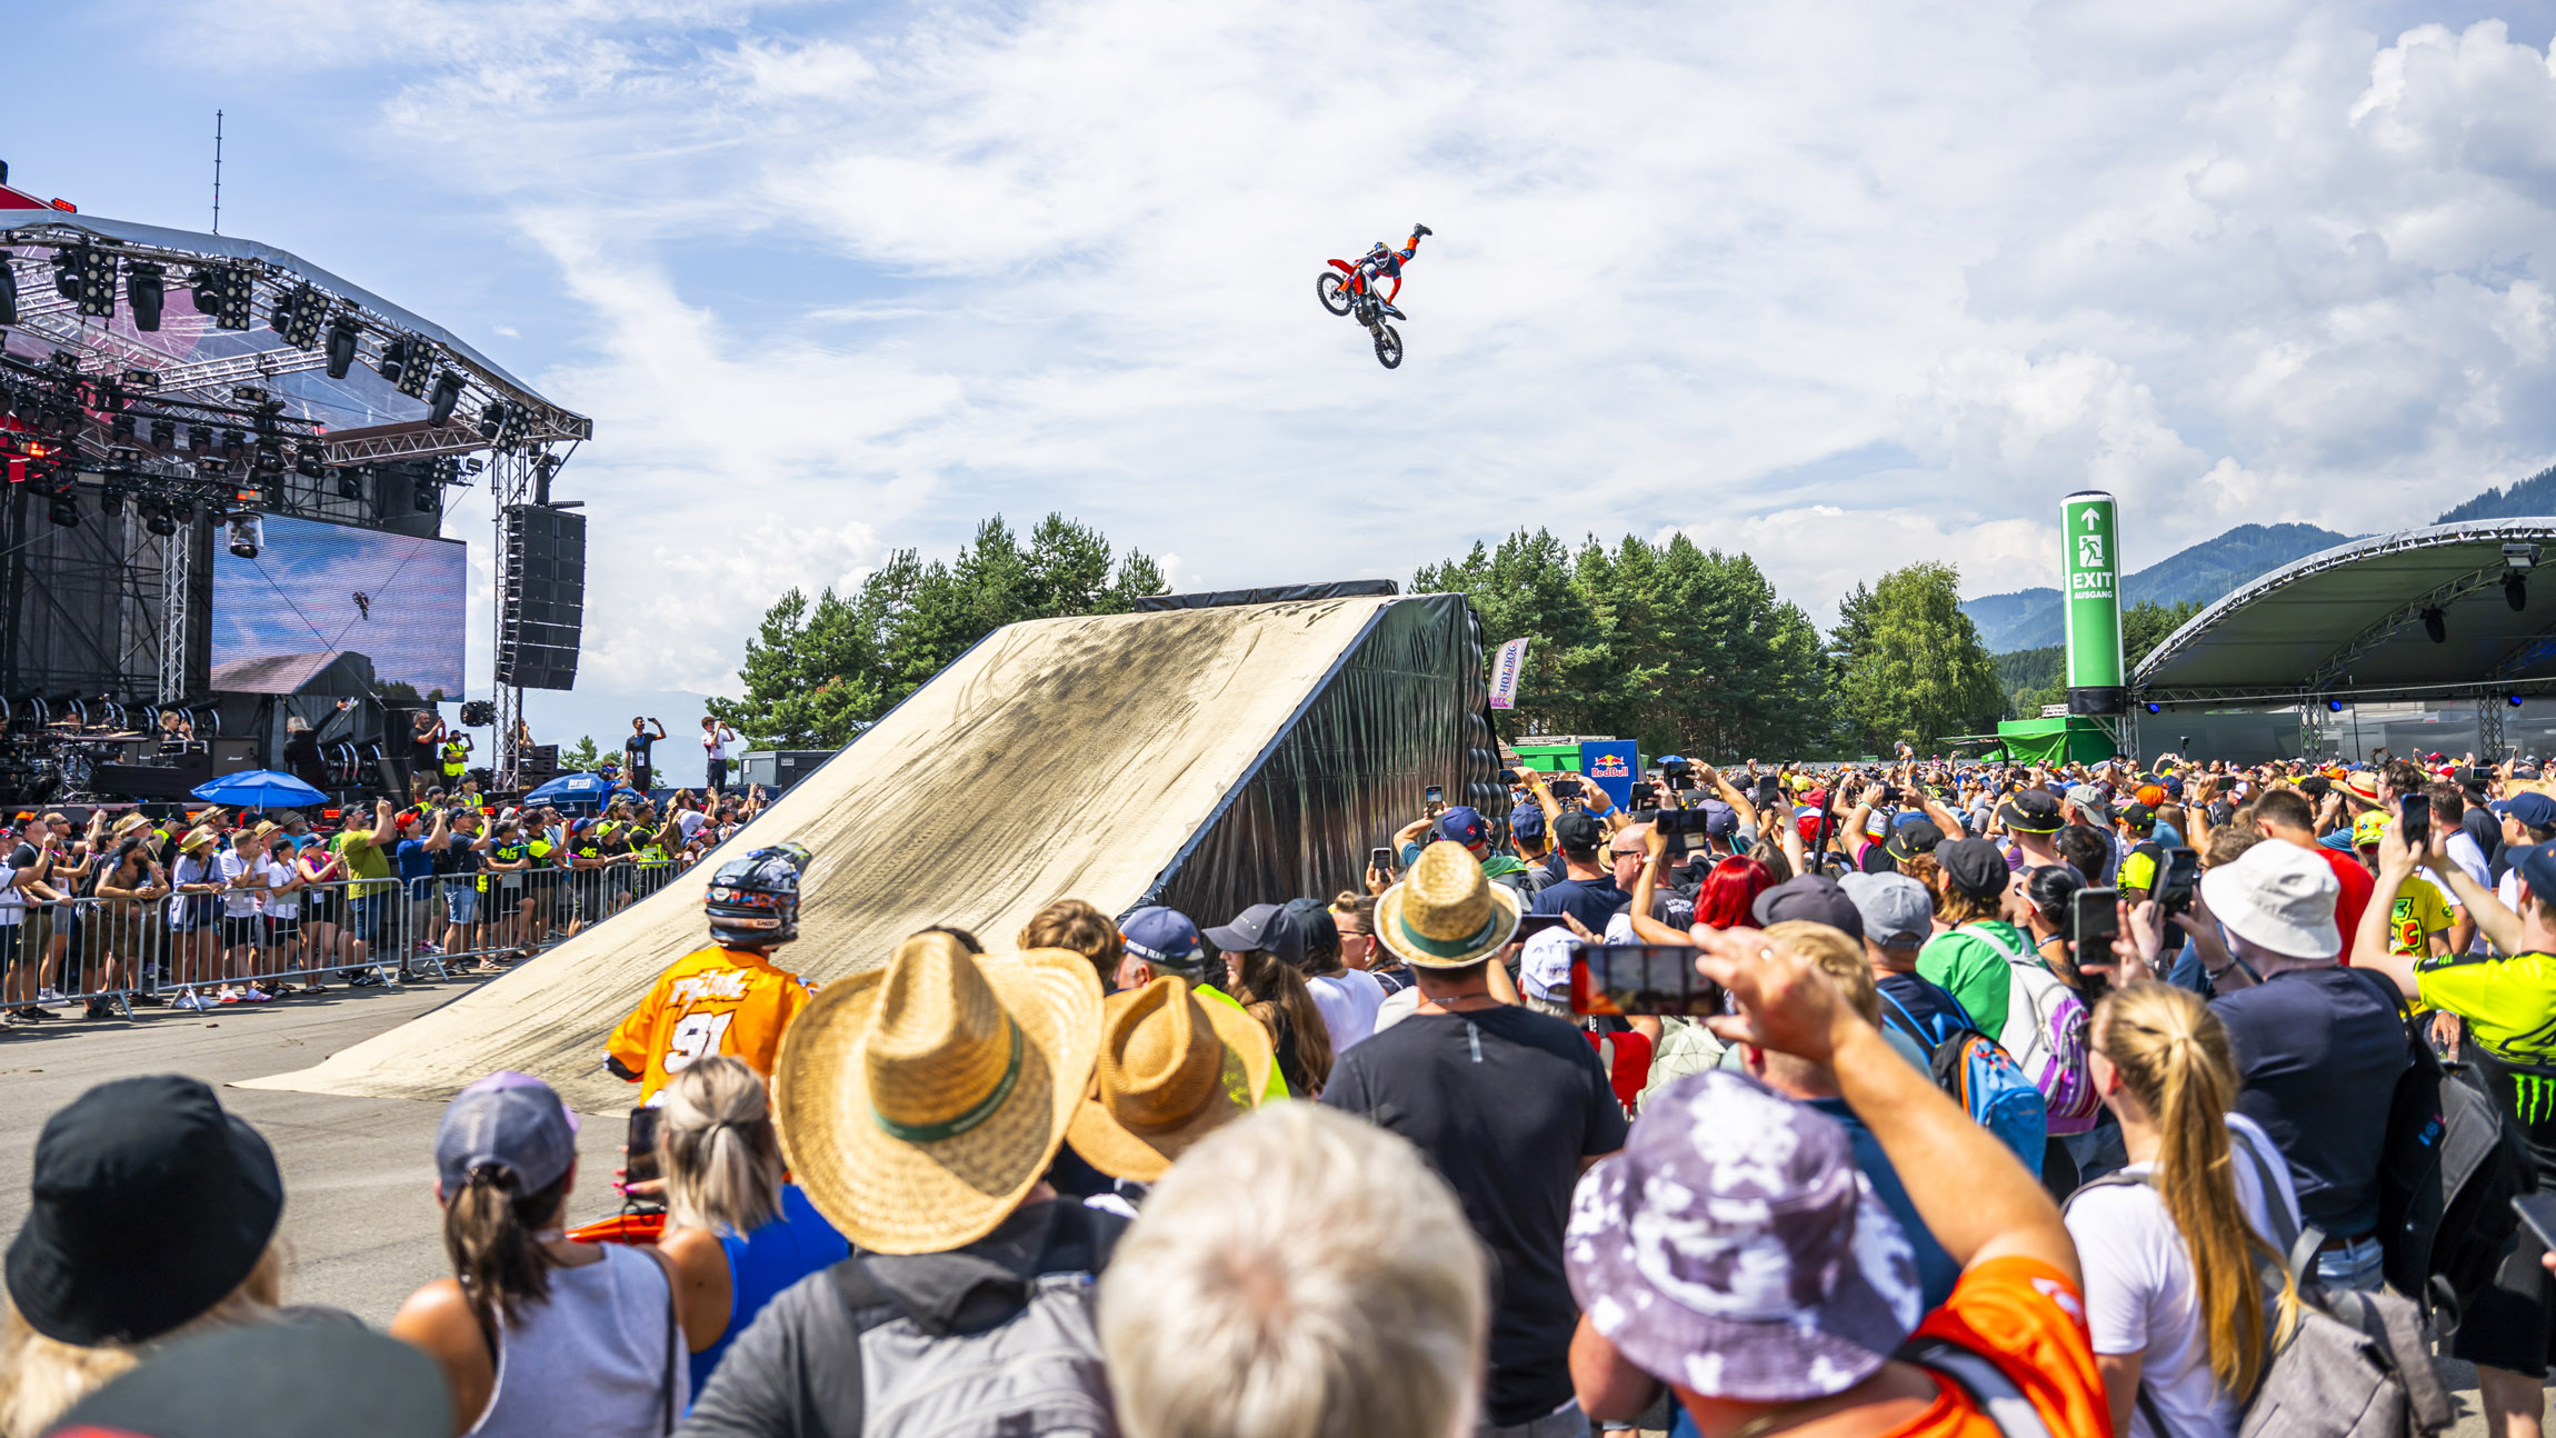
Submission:
<svg viewBox="0 0 2556 1438">
<path fill-rule="evenodd" d="M 2239 1402 L 2262 1379 L 2265 1315 L 2254 1282 L 2260 1259 L 2277 1259 L 2236 1206 L 2229 1154 L 2229 1109 L 2236 1103 L 2236 1060 L 2229 1032 L 2198 994 L 2173 983 L 2114 988 L 2093 1011 L 2093 1050 L 2157 1124 L 2157 1195 L 2183 1231 L 2201 1305 L 2211 1377 Z M 2265 1193 L 2280 1203 L 2280 1193 Z M 2283 1275 L 2283 1310 L 2295 1300 Z"/>
</svg>

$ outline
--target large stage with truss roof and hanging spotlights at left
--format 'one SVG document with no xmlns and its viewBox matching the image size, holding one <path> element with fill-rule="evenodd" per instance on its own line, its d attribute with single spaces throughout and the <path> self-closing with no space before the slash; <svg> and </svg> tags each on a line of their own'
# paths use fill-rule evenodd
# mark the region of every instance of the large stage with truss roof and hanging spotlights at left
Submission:
<svg viewBox="0 0 2556 1438">
<path fill-rule="evenodd" d="M 547 506 L 590 434 L 458 335 L 299 255 L 79 215 L 10 189 L 0 166 L 13 733 L 38 710 L 56 725 L 107 705 L 217 713 L 215 547 L 256 554 L 276 516 L 432 539 L 447 493 L 486 483 L 504 641 L 506 511 Z M 516 687 L 496 690 L 496 718 L 493 766 L 509 774 Z"/>
</svg>

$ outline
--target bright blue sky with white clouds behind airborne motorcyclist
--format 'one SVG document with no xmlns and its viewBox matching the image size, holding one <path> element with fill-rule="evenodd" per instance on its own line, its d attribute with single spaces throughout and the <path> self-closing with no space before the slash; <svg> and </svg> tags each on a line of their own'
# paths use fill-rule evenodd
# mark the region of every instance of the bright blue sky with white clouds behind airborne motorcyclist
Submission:
<svg viewBox="0 0 2556 1438">
<path fill-rule="evenodd" d="M 606 733 L 688 725 L 780 590 L 992 511 L 1181 587 L 1684 529 L 1822 618 L 1907 559 L 2047 582 L 2081 485 L 2132 567 L 2428 521 L 2556 457 L 2551 31 L 2548 0 L 110 0 L 15 15 L 115 102 L 18 105 L 0 158 L 204 225 L 222 107 L 225 232 L 590 414 L 583 687 L 534 720 Z M 1411 220 L 1385 373 L 1311 278 Z"/>
</svg>

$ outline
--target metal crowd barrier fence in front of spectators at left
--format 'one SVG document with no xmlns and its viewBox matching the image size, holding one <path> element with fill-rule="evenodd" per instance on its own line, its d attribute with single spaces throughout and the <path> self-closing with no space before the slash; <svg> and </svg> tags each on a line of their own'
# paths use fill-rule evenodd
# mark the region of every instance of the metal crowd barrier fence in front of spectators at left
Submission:
<svg viewBox="0 0 2556 1438">
<path fill-rule="evenodd" d="M 194 1009 L 181 1004 L 187 994 L 212 1006 L 225 994 L 248 1001 L 250 988 L 273 999 L 496 973 L 647 899 L 680 871 L 619 861 L 0 907 L 0 1014 L 38 994 L 66 1019 L 130 1019 L 138 1009 Z"/>
</svg>

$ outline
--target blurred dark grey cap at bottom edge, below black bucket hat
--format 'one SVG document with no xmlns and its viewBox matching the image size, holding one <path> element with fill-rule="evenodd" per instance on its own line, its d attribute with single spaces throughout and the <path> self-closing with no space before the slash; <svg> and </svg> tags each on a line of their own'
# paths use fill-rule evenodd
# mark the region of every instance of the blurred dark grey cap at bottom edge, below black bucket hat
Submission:
<svg viewBox="0 0 2556 1438">
<path fill-rule="evenodd" d="M 345 1433 L 445 1438 L 452 1433 L 452 1384 L 424 1351 L 360 1323 L 248 1323 L 169 1343 L 46 1428 L 46 1438 Z"/>
</svg>

